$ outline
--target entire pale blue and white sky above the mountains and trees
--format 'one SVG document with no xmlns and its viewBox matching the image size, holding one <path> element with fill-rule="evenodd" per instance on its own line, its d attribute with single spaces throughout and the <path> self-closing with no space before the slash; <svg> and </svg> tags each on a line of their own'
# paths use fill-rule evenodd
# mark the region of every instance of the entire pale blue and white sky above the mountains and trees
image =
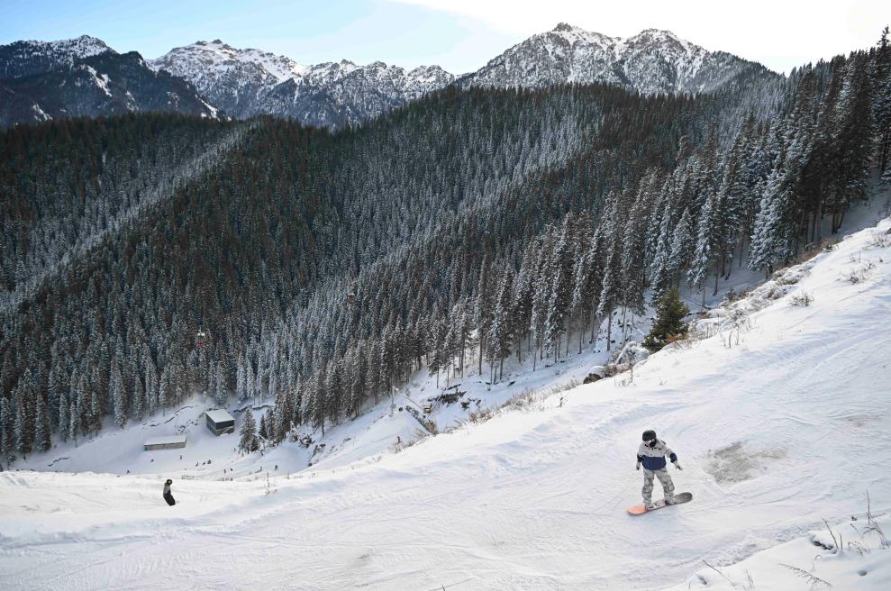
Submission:
<svg viewBox="0 0 891 591">
<path fill-rule="evenodd" d="M 0 0 L 0 44 L 93 35 L 157 58 L 194 41 L 284 54 L 302 64 L 350 59 L 455 74 L 565 22 L 612 37 L 668 29 L 707 50 L 791 68 L 876 43 L 891 0 Z"/>
</svg>

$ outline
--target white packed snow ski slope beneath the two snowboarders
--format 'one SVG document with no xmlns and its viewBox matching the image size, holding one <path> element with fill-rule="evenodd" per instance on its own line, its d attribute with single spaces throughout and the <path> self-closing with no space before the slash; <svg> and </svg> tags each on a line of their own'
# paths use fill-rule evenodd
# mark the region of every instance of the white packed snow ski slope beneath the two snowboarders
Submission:
<svg viewBox="0 0 891 591">
<path fill-rule="evenodd" d="M 268 480 L 268 467 L 232 480 L 196 467 L 170 475 L 173 507 L 161 472 L 0 473 L 3 588 L 812 588 L 799 568 L 838 589 L 887 589 L 891 549 L 867 531 L 866 494 L 891 530 L 889 228 L 778 274 L 746 305 L 709 314 L 702 340 L 633 375 L 398 453 L 332 456 Z M 810 305 L 793 305 L 804 294 Z M 383 439 L 407 420 L 363 419 Z M 677 452 L 684 470 L 671 477 L 694 500 L 632 517 L 645 429 Z M 140 457 L 237 441 L 189 433 L 186 450 Z"/>
</svg>

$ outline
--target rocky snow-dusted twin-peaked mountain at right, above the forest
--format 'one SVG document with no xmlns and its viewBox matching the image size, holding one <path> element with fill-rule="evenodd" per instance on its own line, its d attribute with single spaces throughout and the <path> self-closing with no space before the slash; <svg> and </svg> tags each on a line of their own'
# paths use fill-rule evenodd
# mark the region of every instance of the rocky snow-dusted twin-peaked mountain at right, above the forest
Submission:
<svg viewBox="0 0 891 591">
<path fill-rule="evenodd" d="M 743 72 L 774 76 L 759 64 L 708 51 L 672 32 L 647 29 L 627 39 L 559 23 L 533 35 L 484 68 L 463 77 L 465 86 L 550 86 L 603 82 L 644 94 L 699 93 Z"/>
</svg>

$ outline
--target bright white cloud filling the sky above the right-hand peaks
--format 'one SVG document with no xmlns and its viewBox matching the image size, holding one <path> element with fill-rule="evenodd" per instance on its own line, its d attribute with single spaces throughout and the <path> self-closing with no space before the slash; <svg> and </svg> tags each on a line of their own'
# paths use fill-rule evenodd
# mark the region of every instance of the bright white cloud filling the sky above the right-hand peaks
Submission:
<svg viewBox="0 0 891 591">
<path fill-rule="evenodd" d="M 788 71 L 873 45 L 891 23 L 889 0 L 391 0 L 460 14 L 523 39 L 566 22 L 612 37 L 668 29 L 707 50 L 724 50 Z"/>
</svg>

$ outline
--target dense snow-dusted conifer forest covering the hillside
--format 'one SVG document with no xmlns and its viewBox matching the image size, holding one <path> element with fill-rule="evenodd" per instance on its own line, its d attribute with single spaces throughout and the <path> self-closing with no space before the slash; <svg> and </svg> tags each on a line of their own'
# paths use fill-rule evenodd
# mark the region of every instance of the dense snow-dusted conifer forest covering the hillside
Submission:
<svg viewBox="0 0 891 591">
<path fill-rule="evenodd" d="M 783 267 L 891 183 L 889 158 L 887 31 L 702 95 L 448 87 L 337 132 L 177 114 L 13 127 L 0 459 L 196 391 L 274 397 L 281 441 L 420 368 L 497 381 L 505 359 L 578 351 L 677 286 Z"/>
</svg>

